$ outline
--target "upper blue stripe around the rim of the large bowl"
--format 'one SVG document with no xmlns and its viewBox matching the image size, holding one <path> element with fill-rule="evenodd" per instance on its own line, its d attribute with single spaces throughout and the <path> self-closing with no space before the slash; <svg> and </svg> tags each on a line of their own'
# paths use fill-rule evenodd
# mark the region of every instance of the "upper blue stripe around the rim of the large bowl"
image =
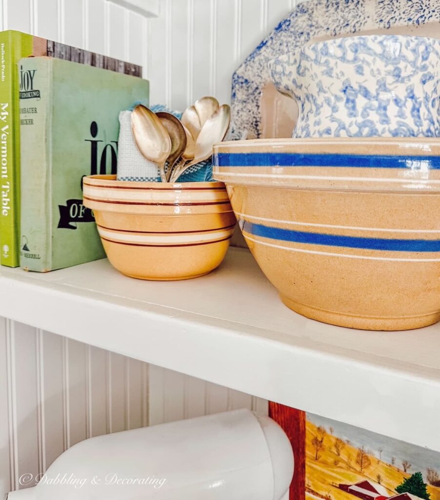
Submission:
<svg viewBox="0 0 440 500">
<path fill-rule="evenodd" d="M 347 166 L 438 170 L 440 156 L 382 154 L 215 153 L 214 166 Z"/>
</svg>

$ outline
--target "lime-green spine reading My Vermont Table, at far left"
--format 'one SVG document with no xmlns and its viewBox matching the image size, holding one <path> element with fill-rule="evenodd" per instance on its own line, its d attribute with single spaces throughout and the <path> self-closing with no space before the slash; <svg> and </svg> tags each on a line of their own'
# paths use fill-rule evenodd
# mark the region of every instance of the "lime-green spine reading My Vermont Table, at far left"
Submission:
<svg viewBox="0 0 440 500">
<path fill-rule="evenodd" d="M 32 53 L 32 36 L 0 32 L 0 147 L 1 147 L 1 253 L 2 265 L 19 265 L 20 220 L 20 113 L 17 61 Z"/>
</svg>

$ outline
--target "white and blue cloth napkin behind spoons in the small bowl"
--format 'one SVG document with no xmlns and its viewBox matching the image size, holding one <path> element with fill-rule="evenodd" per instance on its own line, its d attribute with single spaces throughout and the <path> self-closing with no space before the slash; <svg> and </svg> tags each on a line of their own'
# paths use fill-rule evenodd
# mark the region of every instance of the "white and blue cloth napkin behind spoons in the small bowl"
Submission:
<svg viewBox="0 0 440 500">
<path fill-rule="evenodd" d="M 180 119 L 182 113 L 170 111 L 163 105 L 151 107 L 153 112 L 168 111 Z M 131 130 L 131 110 L 119 113 L 118 139 L 118 180 L 133 180 L 144 182 L 160 182 L 157 165 L 148 161 L 139 151 Z M 212 180 L 212 160 L 202 161 L 190 166 L 178 179 L 178 182 L 197 182 Z"/>
</svg>

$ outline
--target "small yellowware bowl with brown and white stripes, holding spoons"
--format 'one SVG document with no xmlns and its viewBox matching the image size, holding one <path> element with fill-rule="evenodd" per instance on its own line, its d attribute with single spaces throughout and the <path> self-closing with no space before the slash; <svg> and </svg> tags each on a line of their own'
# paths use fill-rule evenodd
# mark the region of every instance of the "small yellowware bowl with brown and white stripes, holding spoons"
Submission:
<svg viewBox="0 0 440 500">
<path fill-rule="evenodd" d="M 111 264 L 127 276 L 177 280 L 222 262 L 235 226 L 223 182 L 131 182 L 115 175 L 83 180 Z"/>
</svg>

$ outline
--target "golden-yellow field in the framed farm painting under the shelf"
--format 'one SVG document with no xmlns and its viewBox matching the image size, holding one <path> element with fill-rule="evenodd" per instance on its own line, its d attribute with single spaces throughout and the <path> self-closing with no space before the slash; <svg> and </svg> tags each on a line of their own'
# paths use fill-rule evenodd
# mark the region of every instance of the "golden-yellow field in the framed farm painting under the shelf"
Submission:
<svg viewBox="0 0 440 500">
<path fill-rule="evenodd" d="M 356 463 L 358 448 L 350 442 L 344 442 L 340 449 L 340 455 L 335 448 L 338 436 L 332 435 L 327 430 L 324 436 L 323 448 L 318 451 L 319 458 L 315 459 L 316 447 L 313 445 L 314 437 L 318 436 L 317 427 L 310 421 L 306 426 L 306 497 L 308 500 L 317 498 L 327 498 L 327 500 L 356 500 L 356 496 L 338 488 L 340 483 L 354 484 L 363 479 L 370 479 L 380 482 L 389 490 L 389 495 L 397 494 L 396 486 L 402 483 L 404 478 L 409 477 L 413 472 L 412 468 L 408 472 L 402 470 L 402 464 L 392 465 L 379 460 L 377 456 L 370 453 L 371 464 L 360 472 L 360 466 Z M 320 436 L 318 436 L 320 437 Z M 411 461 L 411 457 L 408 457 Z M 368 460 L 365 460 L 368 462 Z M 400 468 L 401 467 L 401 468 Z M 425 477 L 425 470 L 421 470 Z M 429 485 L 428 491 L 431 500 L 440 500 L 440 487 Z"/>
</svg>

